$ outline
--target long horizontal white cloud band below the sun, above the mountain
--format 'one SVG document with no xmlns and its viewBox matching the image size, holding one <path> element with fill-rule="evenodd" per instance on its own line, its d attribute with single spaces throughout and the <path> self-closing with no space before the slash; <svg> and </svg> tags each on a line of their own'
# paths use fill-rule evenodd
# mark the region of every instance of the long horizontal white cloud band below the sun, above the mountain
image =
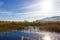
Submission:
<svg viewBox="0 0 60 40">
<path fill-rule="evenodd" d="M 59 16 L 60 15 L 59 13 L 60 12 L 34 11 L 34 12 L 27 12 L 27 13 L 25 13 L 25 16 L 27 16 L 27 17 L 34 17 L 34 16 L 36 16 L 36 17 L 38 17 L 38 16 L 40 16 L 40 17 L 49 17 L 49 16 L 55 16 L 55 15 Z"/>
</svg>

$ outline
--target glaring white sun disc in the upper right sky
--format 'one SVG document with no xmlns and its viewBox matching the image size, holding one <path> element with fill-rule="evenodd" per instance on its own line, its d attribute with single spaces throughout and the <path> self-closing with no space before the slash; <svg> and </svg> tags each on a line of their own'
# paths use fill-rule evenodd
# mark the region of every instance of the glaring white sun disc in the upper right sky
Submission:
<svg viewBox="0 0 60 40">
<path fill-rule="evenodd" d="M 41 3 L 41 10 L 45 11 L 45 12 L 49 12 L 50 10 L 52 10 L 52 0 L 43 0 Z"/>
</svg>

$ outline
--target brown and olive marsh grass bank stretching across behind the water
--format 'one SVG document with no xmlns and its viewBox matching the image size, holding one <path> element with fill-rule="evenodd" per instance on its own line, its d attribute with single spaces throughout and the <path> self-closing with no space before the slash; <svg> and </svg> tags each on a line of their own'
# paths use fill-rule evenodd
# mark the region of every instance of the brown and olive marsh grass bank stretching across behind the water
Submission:
<svg viewBox="0 0 60 40">
<path fill-rule="evenodd" d="M 56 22 L 9 22 L 0 21 L 0 31 L 23 30 L 28 26 L 39 27 L 40 30 L 60 32 L 60 21 Z"/>
</svg>

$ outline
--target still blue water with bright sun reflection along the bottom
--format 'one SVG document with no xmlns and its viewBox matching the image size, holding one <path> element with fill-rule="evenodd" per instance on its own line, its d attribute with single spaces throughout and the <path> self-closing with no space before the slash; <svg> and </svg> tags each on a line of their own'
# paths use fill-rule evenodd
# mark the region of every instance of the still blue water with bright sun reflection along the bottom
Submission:
<svg viewBox="0 0 60 40">
<path fill-rule="evenodd" d="M 0 32 L 0 40 L 60 40 L 60 34 L 28 27 L 22 31 Z"/>
</svg>

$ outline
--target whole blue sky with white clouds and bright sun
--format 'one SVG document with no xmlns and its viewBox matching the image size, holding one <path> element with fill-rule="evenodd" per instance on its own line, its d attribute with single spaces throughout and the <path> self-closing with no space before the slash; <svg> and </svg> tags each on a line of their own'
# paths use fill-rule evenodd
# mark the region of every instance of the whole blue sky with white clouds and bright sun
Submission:
<svg viewBox="0 0 60 40">
<path fill-rule="evenodd" d="M 0 0 L 0 20 L 34 21 L 60 16 L 60 0 Z"/>
</svg>

